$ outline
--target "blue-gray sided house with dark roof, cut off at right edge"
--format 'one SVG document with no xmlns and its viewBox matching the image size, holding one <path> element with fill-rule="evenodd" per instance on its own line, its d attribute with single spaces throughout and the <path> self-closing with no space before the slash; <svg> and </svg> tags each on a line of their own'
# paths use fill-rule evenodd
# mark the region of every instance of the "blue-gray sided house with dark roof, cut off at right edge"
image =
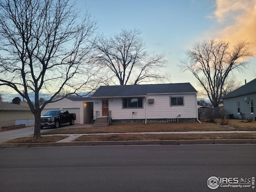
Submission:
<svg viewBox="0 0 256 192">
<path fill-rule="evenodd" d="M 233 118 L 253 118 L 256 120 L 256 79 L 222 97 L 227 114 Z"/>
</svg>

